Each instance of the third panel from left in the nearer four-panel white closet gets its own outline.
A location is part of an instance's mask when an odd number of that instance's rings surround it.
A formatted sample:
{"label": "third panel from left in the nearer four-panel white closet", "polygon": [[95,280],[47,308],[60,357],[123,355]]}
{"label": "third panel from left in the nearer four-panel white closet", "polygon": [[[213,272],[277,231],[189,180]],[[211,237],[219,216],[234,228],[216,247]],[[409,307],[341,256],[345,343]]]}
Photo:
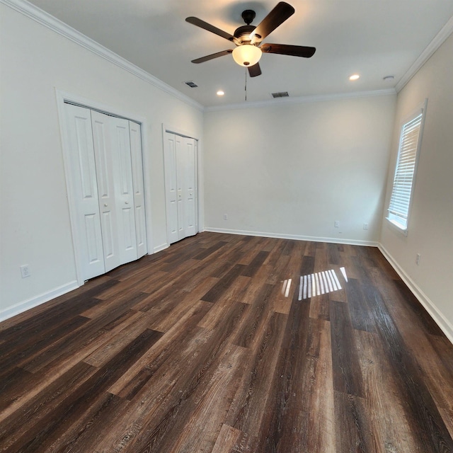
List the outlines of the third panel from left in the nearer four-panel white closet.
{"label": "third panel from left in the nearer four-panel white closet", "polygon": [[129,122],[110,117],[120,264],[137,260]]}

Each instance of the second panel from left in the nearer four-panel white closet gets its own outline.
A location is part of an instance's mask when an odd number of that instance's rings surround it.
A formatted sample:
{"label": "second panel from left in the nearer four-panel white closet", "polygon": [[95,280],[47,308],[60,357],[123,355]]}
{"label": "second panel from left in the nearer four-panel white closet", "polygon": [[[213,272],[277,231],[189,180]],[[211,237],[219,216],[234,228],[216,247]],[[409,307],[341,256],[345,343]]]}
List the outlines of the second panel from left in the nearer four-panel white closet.
{"label": "second panel from left in the nearer four-panel white closet", "polygon": [[105,272],[119,266],[120,253],[118,243],[117,213],[115,205],[115,185],[113,184],[113,155],[110,138],[110,116],[91,112],[93,126],[94,155],[98,180],[99,210]]}

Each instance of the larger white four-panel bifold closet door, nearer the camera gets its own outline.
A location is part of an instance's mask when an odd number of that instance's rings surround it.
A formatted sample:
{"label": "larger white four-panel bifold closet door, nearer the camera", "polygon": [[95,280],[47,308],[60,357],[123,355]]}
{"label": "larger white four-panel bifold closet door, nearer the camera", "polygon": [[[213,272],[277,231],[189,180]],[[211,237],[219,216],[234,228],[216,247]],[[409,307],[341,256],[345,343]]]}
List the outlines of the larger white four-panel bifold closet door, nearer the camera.
{"label": "larger white four-panel bifold closet door, nearer the camera", "polygon": [[65,104],[84,280],[147,253],[140,126]]}

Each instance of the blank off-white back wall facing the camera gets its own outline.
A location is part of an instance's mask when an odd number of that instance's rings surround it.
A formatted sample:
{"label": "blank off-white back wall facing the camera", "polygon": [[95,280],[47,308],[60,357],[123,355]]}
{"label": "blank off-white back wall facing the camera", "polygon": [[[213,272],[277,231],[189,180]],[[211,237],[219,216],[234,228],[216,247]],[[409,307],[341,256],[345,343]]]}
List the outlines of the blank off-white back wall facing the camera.
{"label": "blank off-white back wall facing the camera", "polygon": [[395,100],[205,113],[205,228],[376,245]]}

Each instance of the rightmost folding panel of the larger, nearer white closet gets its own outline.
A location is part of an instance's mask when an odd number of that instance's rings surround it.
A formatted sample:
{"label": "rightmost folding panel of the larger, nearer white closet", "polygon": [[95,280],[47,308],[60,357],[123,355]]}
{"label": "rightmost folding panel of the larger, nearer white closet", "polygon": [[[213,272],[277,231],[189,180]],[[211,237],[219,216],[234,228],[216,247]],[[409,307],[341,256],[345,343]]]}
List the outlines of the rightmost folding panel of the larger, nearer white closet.
{"label": "rightmost folding panel of the larger, nearer white closet", "polygon": [[144,211],[144,183],[142,158],[142,132],[140,125],[129,122],[132,181],[134,184],[135,234],[137,258],[147,254],[147,224]]}

